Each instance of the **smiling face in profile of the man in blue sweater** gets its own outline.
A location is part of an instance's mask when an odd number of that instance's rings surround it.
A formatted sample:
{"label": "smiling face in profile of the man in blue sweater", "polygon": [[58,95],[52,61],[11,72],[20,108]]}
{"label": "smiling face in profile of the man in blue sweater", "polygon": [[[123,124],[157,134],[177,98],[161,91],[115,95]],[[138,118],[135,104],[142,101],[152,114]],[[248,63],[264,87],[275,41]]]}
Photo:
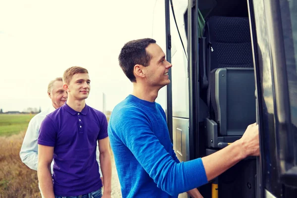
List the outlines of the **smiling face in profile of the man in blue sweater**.
{"label": "smiling face in profile of the man in blue sweater", "polygon": [[149,65],[143,68],[148,85],[158,88],[168,85],[168,70],[172,64],[165,59],[165,53],[157,44],[149,44],[146,50],[152,55]]}

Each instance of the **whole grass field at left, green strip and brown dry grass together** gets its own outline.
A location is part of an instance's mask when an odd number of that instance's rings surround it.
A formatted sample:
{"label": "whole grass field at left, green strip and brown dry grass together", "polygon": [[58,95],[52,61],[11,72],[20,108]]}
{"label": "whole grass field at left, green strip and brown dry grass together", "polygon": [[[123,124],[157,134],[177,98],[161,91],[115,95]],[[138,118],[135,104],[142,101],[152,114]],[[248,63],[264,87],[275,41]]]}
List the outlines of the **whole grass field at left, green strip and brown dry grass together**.
{"label": "whole grass field at left, green strip and brown dry grass together", "polygon": [[0,114],[0,198],[40,198],[37,172],[21,162],[19,152],[30,114]]}

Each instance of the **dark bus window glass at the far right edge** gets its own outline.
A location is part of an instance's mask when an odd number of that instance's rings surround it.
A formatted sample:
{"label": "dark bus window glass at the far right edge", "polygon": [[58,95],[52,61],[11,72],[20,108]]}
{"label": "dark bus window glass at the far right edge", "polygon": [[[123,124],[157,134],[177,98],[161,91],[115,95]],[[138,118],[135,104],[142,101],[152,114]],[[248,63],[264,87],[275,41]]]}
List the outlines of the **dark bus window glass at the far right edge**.
{"label": "dark bus window glass at the far right edge", "polygon": [[291,108],[291,133],[294,137],[295,165],[297,165],[297,1],[280,0],[280,8]]}

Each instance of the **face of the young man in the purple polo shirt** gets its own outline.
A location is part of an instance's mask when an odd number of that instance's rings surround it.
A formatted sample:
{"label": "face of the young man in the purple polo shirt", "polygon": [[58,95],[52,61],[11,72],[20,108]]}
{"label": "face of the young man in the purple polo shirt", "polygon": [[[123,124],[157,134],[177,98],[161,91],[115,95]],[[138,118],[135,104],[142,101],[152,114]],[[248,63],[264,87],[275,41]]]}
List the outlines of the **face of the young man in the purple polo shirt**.
{"label": "face of the young man in the purple polo shirt", "polygon": [[90,77],[87,73],[74,74],[68,85],[68,95],[74,99],[87,99],[90,93]]}

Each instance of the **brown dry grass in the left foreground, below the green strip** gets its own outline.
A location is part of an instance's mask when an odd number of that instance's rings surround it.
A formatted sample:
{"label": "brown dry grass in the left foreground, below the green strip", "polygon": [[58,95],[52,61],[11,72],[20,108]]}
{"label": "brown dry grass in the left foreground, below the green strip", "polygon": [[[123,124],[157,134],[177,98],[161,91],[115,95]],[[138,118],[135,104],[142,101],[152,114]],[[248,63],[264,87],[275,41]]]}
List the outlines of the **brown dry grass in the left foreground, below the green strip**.
{"label": "brown dry grass in the left foreground, below the green strip", "polygon": [[0,198],[41,198],[37,172],[22,163],[25,131],[0,137]]}

